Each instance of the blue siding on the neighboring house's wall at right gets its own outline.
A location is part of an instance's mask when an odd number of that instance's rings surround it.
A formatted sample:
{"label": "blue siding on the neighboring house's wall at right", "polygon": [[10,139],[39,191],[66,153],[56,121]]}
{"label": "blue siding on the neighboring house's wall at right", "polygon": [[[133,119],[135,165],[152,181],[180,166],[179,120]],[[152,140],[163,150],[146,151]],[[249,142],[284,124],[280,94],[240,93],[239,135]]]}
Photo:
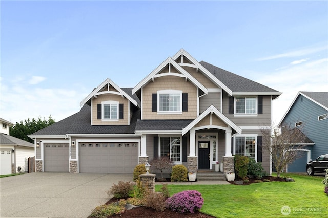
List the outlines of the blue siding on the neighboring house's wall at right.
{"label": "blue siding on the neighboring house's wall at right", "polygon": [[311,151],[312,160],[328,153],[328,119],[318,121],[318,116],[325,113],[328,111],[323,107],[299,95],[284,118],[283,123],[291,123],[292,126],[295,126],[297,121],[303,122],[303,133],[315,143]]}

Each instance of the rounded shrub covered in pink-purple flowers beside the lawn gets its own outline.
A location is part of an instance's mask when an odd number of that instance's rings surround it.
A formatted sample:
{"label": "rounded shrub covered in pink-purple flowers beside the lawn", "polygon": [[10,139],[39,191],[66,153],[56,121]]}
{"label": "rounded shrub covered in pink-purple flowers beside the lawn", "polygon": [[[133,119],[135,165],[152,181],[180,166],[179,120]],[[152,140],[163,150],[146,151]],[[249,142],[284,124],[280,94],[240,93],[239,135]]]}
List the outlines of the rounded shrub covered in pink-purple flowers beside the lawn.
{"label": "rounded shrub covered in pink-purple flowers beside the lawn", "polygon": [[180,213],[194,213],[204,203],[201,193],[195,190],[181,191],[166,200],[166,207]]}

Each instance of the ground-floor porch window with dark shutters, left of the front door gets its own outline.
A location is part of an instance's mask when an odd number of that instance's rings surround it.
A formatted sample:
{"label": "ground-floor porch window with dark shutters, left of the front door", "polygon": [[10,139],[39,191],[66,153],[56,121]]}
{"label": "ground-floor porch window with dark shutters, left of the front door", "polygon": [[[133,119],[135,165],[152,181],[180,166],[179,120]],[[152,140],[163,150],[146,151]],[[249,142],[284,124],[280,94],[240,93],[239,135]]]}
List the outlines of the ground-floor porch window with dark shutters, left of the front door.
{"label": "ground-floor porch window with dark shutters, left of the front door", "polygon": [[160,137],[160,156],[169,157],[171,161],[181,161],[180,137]]}

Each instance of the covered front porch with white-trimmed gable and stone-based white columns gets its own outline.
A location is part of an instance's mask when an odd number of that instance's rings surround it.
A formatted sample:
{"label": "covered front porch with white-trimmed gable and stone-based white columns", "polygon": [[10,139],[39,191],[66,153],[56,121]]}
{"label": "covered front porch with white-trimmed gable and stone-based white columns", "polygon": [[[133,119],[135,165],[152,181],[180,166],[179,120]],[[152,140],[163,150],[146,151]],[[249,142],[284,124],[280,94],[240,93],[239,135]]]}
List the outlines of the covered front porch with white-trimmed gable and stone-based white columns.
{"label": "covered front porch with white-trimmed gable and stone-based white columns", "polygon": [[[153,121],[141,122],[149,125]],[[197,173],[198,170],[213,170],[219,162],[223,163],[224,173],[234,171],[232,135],[241,134],[241,128],[217,108],[210,106],[188,123],[179,120],[170,122],[174,123],[174,126],[182,126],[183,122],[185,125],[182,131],[153,129],[140,132],[139,163],[166,156],[175,164],[186,165],[192,173]]]}

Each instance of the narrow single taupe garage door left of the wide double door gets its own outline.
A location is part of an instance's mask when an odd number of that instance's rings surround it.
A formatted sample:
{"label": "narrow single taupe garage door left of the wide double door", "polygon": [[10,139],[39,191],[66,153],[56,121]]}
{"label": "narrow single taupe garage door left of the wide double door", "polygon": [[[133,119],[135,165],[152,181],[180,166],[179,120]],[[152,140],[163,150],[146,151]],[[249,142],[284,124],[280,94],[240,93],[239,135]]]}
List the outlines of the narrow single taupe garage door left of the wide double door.
{"label": "narrow single taupe garage door left of the wide double door", "polygon": [[69,172],[69,144],[44,145],[45,172]]}

